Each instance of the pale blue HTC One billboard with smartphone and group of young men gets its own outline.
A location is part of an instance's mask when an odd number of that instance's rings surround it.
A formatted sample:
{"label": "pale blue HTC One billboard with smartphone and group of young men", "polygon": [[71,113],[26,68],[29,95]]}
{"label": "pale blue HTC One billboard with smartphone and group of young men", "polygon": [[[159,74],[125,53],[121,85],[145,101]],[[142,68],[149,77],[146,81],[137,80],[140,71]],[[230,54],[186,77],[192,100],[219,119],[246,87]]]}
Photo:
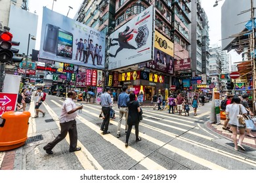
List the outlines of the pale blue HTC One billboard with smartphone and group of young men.
{"label": "pale blue HTC One billboard with smartphone and group of young men", "polygon": [[39,58],[103,69],[105,39],[104,33],[43,8]]}

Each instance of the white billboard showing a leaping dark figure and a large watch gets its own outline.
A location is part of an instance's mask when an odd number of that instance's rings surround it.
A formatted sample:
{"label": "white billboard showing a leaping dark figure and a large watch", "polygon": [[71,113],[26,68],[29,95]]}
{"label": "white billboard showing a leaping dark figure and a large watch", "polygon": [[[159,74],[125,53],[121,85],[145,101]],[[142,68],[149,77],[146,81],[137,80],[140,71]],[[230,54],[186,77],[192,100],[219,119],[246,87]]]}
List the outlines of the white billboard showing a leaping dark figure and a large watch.
{"label": "white billboard showing a leaping dark figure and a large watch", "polygon": [[152,59],[153,18],[154,7],[150,6],[110,35],[108,69],[117,69]]}

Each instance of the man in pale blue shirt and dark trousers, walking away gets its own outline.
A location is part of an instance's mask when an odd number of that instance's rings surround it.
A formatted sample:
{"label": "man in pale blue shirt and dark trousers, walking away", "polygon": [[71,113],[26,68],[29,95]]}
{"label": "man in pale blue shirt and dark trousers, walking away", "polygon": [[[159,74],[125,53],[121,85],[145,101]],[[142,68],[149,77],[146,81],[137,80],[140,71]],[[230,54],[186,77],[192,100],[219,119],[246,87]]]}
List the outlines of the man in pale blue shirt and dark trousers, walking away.
{"label": "man in pale blue shirt and dark trousers, walking away", "polygon": [[110,105],[112,103],[110,97],[110,88],[105,89],[105,92],[100,97],[100,102],[102,106],[102,112],[104,114],[104,119],[100,126],[100,130],[103,131],[103,135],[106,135],[110,133],[110,131],[108,131],[108,125],[110,124]]}

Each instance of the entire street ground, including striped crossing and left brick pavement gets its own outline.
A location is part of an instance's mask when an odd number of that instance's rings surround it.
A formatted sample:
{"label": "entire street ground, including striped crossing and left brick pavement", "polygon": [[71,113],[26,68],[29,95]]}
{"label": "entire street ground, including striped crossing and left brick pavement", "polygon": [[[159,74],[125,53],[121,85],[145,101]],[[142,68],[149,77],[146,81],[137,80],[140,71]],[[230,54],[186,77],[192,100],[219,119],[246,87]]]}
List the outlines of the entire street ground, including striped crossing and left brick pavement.
{"label": "entire street ground, including striped crossing and left brick pavement", "polygon": [[[251,170],[256,169],[256,151],[245,146],[246,152],[234,151],[233,142],[225,135],[209,127],[210,103],[198,108],[194,116],[168,114],[167,110],[153,110],[142,106],[143,120],[139,125],[142,141],[135,142],[133,128],[129,146],[125,147],[125,120],[122,121],[121,137],[117,139],[118,108],[116,119],[110,120],[108,135],[102,135],[98,118],[98,104],[83,103],[83,112],[77,116],[79,152],[69,152],[69,139],[58,143],[54,154],[46,154],[43,146],[60,133],[59,115],[63,99],[47,95],[41,109],[45,118],[30,118],[28,141],[20,148],[0,152],[0,170]],[[81,102],[77,102],[80,105]],[[29,110],[32,116],[34,102]],[[221,134],[221,135],[220,135]],[[245,138],[248,144],[254,139]],[[255,143],[254,143],[255,144]]]}

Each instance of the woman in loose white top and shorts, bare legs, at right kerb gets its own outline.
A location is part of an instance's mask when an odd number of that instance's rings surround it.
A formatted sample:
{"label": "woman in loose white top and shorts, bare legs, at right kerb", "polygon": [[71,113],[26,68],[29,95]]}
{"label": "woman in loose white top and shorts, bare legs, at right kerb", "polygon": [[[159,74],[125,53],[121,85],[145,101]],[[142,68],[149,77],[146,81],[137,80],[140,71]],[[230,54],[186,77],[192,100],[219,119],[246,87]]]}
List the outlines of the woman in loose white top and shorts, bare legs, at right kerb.
{"label": "woman in loose white top and shorts, bare legs, at right kerb", "polygon": [[[228,124],[230,124],[230,129],[232,131],[232,139],[234,142],[234,150],[245,150],[245,148],[241,145],[244,141],[244,131],[245,131],[245,125],[239,124],[238,122],[238,115],[240,114],[240,110],[242,114],[245,116],[247,115],[247,111],[245,110],[244,106],[240,104],[241,99],[239,97],[233,97],[231,104],[226,105],[226,114],[229,116],[230,120]],[[237,129],[239,130],[239,139],[238,142],[236,140],[237,137]]]}

